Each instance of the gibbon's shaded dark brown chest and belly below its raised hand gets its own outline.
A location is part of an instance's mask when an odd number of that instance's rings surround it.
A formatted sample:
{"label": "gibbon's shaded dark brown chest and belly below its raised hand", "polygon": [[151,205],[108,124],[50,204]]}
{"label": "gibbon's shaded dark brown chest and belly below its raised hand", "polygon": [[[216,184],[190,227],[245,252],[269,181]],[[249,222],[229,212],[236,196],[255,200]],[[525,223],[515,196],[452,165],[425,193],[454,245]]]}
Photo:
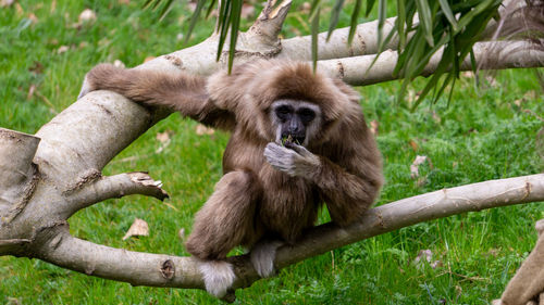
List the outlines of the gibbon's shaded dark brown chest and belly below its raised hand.
{"label": "gibbon's shaded dark brown chest and belly below its raised hand", "polygon": [[295,242],[304,229],[312,227],[319,209],[316,188],[302,178],[293,178],[272,167],[259,175],[263,189],[258,221],[267,231]]}

